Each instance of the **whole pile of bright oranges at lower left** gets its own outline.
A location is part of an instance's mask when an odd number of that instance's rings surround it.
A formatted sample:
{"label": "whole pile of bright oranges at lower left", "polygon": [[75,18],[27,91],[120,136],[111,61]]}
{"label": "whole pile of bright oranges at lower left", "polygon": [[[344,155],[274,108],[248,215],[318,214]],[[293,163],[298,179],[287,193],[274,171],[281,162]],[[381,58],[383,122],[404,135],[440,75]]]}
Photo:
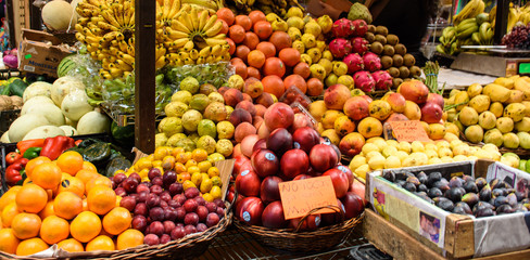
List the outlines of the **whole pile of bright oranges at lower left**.
{"label": "whole pile of bright oranges at lower left", "polygon": [[143,234],[129,229],[132,217],[118,207],[111,180],[79,153],[31,159],[22,186],[0,197],[1,251],[28,256],[53,244],[71,252],[143,244]]}

